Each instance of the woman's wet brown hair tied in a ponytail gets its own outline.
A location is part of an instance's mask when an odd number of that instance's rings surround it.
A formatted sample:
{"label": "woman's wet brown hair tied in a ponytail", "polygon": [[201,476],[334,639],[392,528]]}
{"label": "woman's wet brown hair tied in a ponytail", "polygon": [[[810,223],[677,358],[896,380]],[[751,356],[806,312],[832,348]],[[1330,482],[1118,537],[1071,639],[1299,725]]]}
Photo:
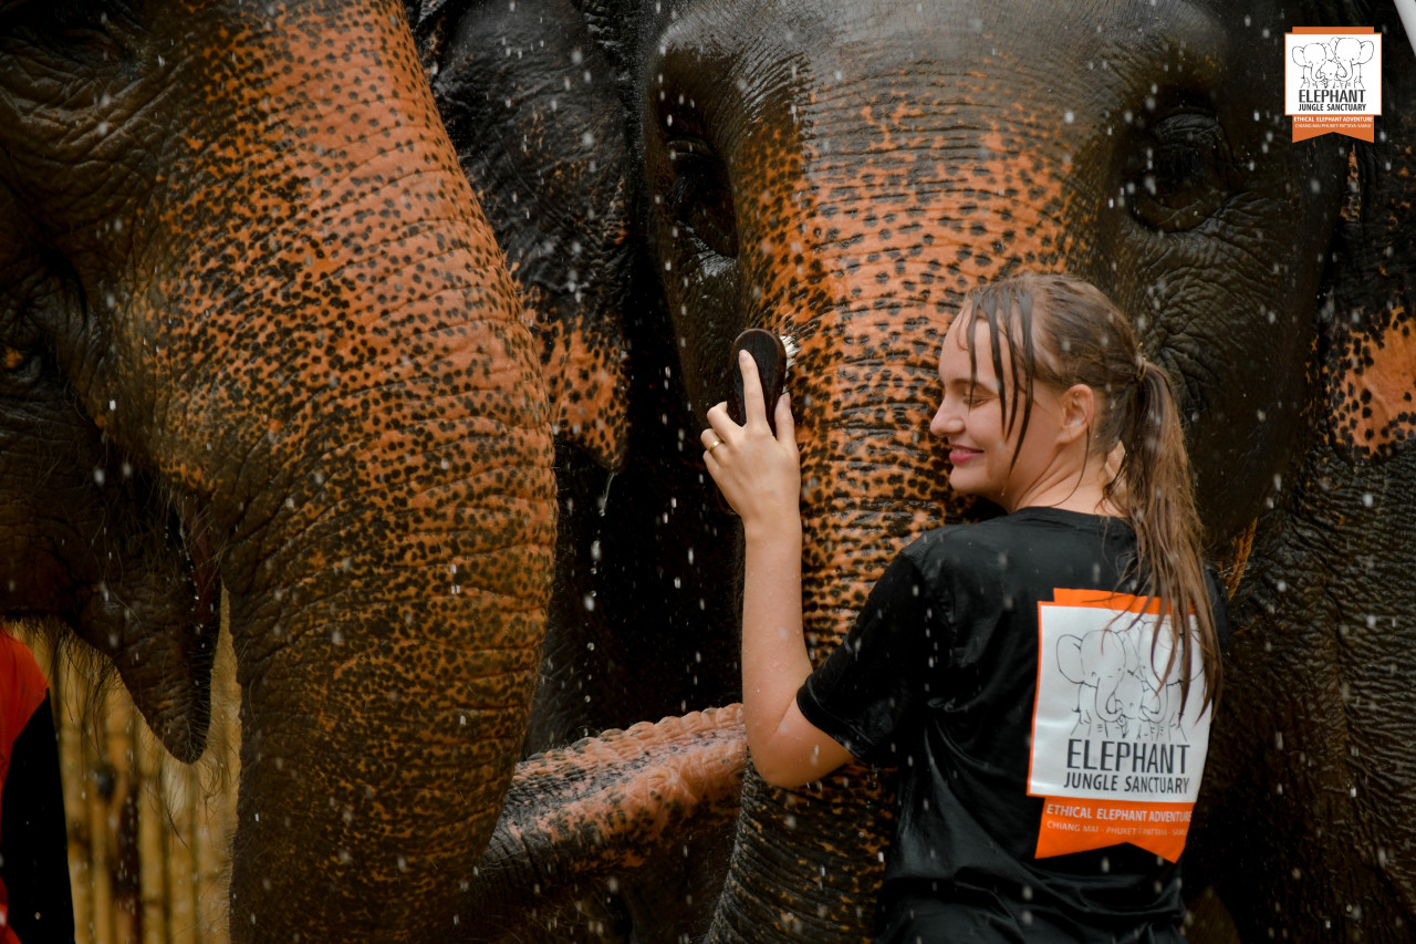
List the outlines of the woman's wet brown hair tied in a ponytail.
{"label": "woman's wet brown hair tied in a ponytail", "polygon": [[[1195,634],[1181,632],[1181,621],[1165,621],[1175,645],[1160,675],[1170,675],[1175,658],[1182,666],[1194,665],[1198,645],[1205,672],[1202,704],[1212,703],[1219,695],[1219,639],[1201,554],[1204,529],[1170,376],[1146,359],[1120,309],[1100,289],[1070,275],[1024,272],[978,286],[964,296],[960,315],[969,319],[960,337],[969,350],[971,383],[978,380],[974,330],[980,322],[988,325],[1005,429],[1011,435],[1020,427],[1014,465],[1028,432],[1035,384],[1058,393],[1085,384],[1096,394],[1087,461],[1097,456],[1106,462],[1117,444],[1124,446],[1104,496],[1136,532],[1137,560],[1127,577],[1146,581],[1163,614],[1195,617]],[[1005,356],[1011,384],[1004,380]],[[1181,672],[1181,710],[1188,697],[1187,669]]]}

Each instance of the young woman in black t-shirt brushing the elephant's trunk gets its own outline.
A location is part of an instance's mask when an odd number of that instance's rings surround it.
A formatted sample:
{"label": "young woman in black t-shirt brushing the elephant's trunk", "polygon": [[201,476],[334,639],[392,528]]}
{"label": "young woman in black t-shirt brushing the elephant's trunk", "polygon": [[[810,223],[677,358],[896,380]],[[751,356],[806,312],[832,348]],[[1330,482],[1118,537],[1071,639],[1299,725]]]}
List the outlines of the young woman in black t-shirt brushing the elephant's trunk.
{"label": "young woman in black t-shirt brushing the elephant's trunk", "polygon": [[1062,275],[964,299],[930,432],[1005,515],[910,544],[816,672],[790,405],[773,437],[739,367],[746,424],[719,404],[702,442],[746,540],[748,744],[780,787],[899,767],[877,940],[1180,941],[1228,629],[1170,380],[1126,318]]}

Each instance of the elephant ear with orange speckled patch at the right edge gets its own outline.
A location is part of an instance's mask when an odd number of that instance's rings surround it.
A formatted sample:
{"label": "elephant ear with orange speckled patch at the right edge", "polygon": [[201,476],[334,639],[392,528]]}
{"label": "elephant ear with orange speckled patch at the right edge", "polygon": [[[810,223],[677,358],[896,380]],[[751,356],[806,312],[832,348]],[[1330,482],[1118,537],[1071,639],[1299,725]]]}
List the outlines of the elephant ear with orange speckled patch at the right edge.
{"label": "elephant ear with orange speckled patch at the right edge", "polygon": [[1385,33],[1382,116],[1351,157],[1321,361],[1332,445],[1349,462],[1416,439],[1416,55],[1399,23]]}

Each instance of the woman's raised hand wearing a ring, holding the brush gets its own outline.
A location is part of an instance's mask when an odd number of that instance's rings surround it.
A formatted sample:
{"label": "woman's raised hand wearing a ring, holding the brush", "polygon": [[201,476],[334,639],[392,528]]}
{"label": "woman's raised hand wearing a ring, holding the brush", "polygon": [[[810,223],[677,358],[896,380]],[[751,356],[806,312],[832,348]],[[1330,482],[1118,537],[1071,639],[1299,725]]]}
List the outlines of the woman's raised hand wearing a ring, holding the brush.
{"label": "woman's raised hand wearing a ring, holding the brush", "polygon": [[748,352],[739,352],[738,367],[742,370],[746,424],[739,427],[733,422],[725,403],[709,410],[709,428],[702,432],[707,449],[704,463],[728,505],[742,517],[743,532],[750,540],[773,534],[777,529],[801,526],[801,471],[787,394],[783,393],[775,404],[777,434],[773,437],[762,401],[758,363]]}

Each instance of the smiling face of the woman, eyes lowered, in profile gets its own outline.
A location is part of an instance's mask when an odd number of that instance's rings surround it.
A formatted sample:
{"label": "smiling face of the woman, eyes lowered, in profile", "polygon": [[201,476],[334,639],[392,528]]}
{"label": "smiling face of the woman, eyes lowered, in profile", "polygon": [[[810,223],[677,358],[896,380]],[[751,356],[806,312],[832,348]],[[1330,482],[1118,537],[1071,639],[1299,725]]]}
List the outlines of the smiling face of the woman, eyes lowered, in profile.
{"label": "smiling face of the woman, eyes lowered, in profile", "polygon": [[[944,395],[929,431],[949,444],[949,461],[953,463],[950,488],[963,495],[986,498],[1012,512],[1027,505],[1028,496],[1045,482],[1054,458],[1048,444],[1056,441],[1061,404],[1052,390],[1034,386],[1027,439],[1014,463],[1012,455],[1018,448],[1027,403],[1017,404],[1018,418],[1010,432],[1000,397],[1003,384],[1008,384],[1010,411],[1017,394],[1011,377],[1001,378],[994,373],[991,329],[981,319],[973,325],[973,346],[978,357],[977,377],[970,378],[969,347],[964,346],[969,315],[970,308],[966,305],[944,335],[939,354],[939,378],[944,384]],[[1001,339],[1001,350],[1003,363],[1008,364],[1007,339]]]}

